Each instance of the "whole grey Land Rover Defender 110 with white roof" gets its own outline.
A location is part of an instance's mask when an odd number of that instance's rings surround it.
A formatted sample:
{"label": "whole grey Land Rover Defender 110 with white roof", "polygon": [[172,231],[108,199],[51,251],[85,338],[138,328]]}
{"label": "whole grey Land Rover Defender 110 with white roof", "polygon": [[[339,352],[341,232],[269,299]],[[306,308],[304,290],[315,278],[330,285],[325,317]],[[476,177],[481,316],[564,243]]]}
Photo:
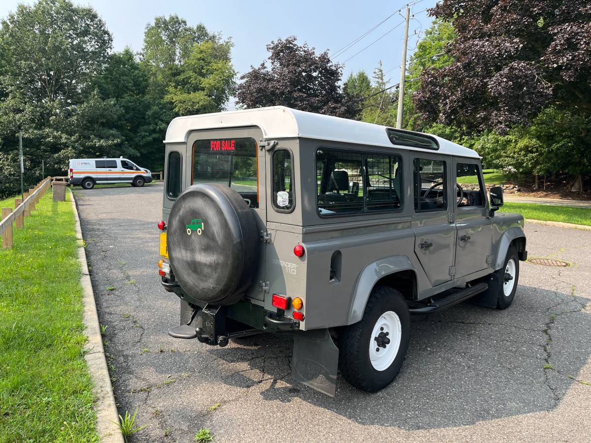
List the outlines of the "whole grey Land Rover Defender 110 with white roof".
{"label": "whole grey Land Rover Defender 110 with white roof", "polygon": [[294,338],[292,375],[335,395],[400,371],[411,314],[504,309],[527,259],[475,151],[437,136],[273,107],[174,119],[160,275],[169,334]]}

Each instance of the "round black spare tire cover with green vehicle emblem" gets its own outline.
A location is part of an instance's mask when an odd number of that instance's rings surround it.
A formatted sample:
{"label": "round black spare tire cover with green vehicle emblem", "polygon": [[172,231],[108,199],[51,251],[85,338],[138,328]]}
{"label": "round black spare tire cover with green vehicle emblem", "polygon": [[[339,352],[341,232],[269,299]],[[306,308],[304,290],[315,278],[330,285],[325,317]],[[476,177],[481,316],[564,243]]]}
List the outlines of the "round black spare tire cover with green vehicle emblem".
{"label": "round black spare tire cover with green vehicle emblem", "polygon": [[259,241],[252,210],[240,194],[223,185],[187,188],[168,217],[170,265],[195,301],[238,302],[252,284]]}

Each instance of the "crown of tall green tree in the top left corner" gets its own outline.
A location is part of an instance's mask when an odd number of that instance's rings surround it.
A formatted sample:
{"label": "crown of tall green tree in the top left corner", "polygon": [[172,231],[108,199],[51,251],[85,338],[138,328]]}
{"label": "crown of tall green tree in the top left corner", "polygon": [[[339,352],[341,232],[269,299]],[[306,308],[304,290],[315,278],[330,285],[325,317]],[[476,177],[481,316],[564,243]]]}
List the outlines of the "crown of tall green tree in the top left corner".
{"label": "crown of tall green tree in the top left corner", "polygon": [[1,86],[5,92],[18,89],[27,100],[70,105],[101,69],[111,41],[92,8],[67,0],[20,4],[2,20]]}

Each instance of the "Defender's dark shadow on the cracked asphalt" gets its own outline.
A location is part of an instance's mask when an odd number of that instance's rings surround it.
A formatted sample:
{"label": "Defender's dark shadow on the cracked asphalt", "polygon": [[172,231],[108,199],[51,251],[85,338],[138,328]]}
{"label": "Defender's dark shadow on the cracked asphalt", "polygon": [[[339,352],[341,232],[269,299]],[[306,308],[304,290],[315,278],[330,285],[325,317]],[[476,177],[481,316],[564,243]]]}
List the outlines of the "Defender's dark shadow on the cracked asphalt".
{"label": "Defender's dark shadow on the cracked asphalt", "polygon": [[414,319],[401,373],[374,394],[340,376],[334,399],[295,383],[292,340],[285,335],[243,338],[247,348],[209,353],[248,361],[250,370],[224,383],[250,387],[271,380],[261,392],[266,400],[290,402],[297,396],[362,425],[428,429],[548,411],[576,383],[591,355],[591,316],[582,311],[589,299],[528,286],[519,286],[518,296],[505,311],[465,303]]}

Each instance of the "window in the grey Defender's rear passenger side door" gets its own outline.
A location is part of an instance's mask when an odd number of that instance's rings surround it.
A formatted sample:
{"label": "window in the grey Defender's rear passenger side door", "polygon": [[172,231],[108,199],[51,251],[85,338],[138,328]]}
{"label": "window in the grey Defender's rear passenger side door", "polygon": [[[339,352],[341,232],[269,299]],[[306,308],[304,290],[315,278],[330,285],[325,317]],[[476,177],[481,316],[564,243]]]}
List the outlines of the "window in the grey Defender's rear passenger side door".
{"label": "window in the grey Defender's rear passenger side door", "polygon": [[447,209],[446,165],[442,160],[414,159],[414,209]]}

